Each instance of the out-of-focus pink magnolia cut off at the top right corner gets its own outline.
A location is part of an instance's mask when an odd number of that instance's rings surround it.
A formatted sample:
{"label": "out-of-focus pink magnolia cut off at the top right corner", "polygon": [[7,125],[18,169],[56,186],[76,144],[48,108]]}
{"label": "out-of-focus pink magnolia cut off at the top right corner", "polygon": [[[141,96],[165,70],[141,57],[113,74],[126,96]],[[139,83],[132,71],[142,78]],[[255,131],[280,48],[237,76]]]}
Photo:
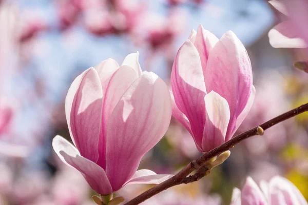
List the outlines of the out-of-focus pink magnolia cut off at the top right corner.
{"label": "out-of-focus pink magnolia cut off at the top right corner", "polygon": [[307,2],[274,0],[268,3],[288,18],[268,32],[269,43],[274,48],[306,48],[308,46]]}

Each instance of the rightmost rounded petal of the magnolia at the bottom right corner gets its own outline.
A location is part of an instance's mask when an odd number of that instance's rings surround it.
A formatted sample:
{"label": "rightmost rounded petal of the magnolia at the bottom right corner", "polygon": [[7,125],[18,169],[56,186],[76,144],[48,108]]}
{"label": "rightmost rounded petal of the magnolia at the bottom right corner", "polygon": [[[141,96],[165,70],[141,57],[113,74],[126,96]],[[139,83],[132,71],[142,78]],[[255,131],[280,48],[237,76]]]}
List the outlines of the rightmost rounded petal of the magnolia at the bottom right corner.
{"label": "rightmost rounded petal of the magnolia at the bottom right corner", "polygon": [[280,176],[273,177],[269,182],[269,193],[271,205],[307,204],[307,201],[293,183]]}

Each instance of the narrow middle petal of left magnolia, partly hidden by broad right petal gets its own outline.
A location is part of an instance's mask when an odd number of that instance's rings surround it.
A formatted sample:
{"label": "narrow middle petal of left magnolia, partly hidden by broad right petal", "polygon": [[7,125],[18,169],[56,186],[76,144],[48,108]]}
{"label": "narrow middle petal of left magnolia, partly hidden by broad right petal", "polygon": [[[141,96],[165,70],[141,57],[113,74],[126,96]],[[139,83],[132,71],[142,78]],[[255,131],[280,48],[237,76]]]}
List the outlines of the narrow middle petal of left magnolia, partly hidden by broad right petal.
{"label": "narrow middle petal of left magnolia, partly hidden by broad right petal", "polygon": [[110,77],[109,84],[106,88],[105,98],[102,111],[102,125],[99,140],[99,160],[98,165],[103,169],[106,168],[106,135],[108,119],[118,104],[122,95],[137,78],[137,73],[129,66],[121,66]]}

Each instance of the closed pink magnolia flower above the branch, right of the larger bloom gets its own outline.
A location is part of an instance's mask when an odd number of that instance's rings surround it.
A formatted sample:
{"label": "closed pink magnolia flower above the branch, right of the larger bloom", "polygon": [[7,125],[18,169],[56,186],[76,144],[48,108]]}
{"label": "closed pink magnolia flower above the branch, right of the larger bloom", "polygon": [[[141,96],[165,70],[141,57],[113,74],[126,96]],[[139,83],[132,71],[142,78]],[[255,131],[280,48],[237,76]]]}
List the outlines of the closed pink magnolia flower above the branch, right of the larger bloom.
{"label": "closed pink magnolia flower above the branch, right of the larger bloom", "polygon": [[179,49],[171,72],[172,114],[200,152],[229,140],[252,106],[251,61],[232,32],[219,40],[200,25]]}

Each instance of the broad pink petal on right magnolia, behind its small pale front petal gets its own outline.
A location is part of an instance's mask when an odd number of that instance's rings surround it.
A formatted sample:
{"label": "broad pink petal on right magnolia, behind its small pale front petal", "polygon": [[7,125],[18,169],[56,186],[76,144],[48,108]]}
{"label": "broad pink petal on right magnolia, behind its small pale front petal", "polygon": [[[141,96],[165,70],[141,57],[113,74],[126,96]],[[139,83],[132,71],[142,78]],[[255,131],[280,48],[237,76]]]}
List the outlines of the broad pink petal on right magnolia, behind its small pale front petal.
{"label": "broad pink petal on right magnolia, behind its small pale front petal", "polygon": [[244,110],[253,85],[251,61],[237,36],[226,32],[210,50],[204,73],[207,91],[225,98],[230,109],[226,141],[236,129],[236,119]]}

